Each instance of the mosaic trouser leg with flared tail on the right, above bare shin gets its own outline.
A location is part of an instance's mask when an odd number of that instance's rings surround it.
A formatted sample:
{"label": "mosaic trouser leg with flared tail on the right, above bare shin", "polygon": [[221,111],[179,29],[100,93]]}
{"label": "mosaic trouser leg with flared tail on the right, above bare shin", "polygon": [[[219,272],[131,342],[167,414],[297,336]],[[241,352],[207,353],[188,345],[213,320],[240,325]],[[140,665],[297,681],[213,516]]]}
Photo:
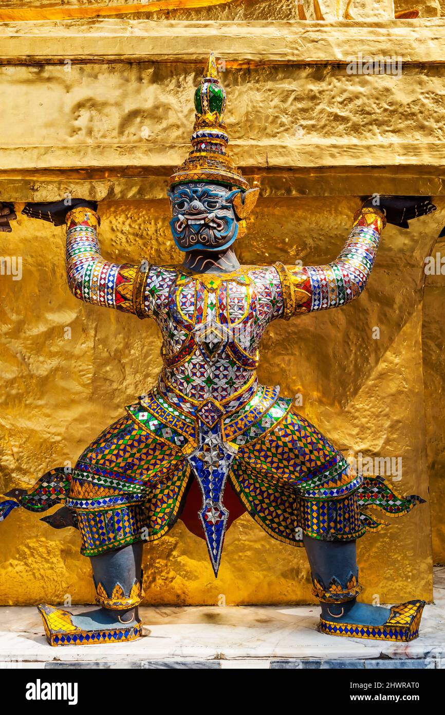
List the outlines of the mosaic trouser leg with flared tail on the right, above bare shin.
{"label": "mosaic trouser leg with flared tail on the right, above bare shin", "polygon": [[251,517],[270,536],[294,546],[302,545],[303,534],[351,541],[384,526],[370,508],[401,516],[423,501],[401,497],[382,477],[356,475],[294,409],[264,437],[239,449],[230,476]]}

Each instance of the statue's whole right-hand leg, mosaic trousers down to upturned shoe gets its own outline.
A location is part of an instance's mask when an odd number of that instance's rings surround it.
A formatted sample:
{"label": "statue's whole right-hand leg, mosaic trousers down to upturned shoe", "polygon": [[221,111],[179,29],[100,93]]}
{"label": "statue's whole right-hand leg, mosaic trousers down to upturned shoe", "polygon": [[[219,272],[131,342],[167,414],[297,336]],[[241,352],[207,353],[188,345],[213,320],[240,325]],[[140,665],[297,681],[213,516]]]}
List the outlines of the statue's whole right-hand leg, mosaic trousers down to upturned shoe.
{"label": "statue's whole right-hand leg, mosaic trousers down to upturned shoe", "polygon": [[[266,413],[276,420],[286,400]],[[423,499],[397,494],[383,477],[357,474],[329,440],[291,408],[265,436],[239,449],[230,478],[251,516],[279,541],[301,545],[321,603],[320,630],[334,636],[410,641],[424,601],[380,608],[359,603],[356,539],[377,531],[375,510],[401,516]],[[245,437],[244,437],[245,439]]]}

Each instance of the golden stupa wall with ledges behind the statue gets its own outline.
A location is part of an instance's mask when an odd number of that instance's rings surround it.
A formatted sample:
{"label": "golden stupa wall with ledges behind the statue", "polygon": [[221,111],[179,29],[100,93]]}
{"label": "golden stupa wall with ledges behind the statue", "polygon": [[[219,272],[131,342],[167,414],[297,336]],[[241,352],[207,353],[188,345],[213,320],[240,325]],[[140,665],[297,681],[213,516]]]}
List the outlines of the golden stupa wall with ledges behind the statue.
{"label": "golden stupa wall with ledges behind the statue", "polygon": [[[64,11],[94,5],[71,0]],[[272,325],[259,370],[284,395],[301,395],[304,415],[346,453],[401,459],[401,479],[386,476],[429,503],[360,541],[364,596],[431,599],[433,561],[445,562],[445,277],[424,273],[424,258],[444,250],[436,243],[445,225],[439,3],[404,21],[392,5],[358,2],[348,12],[361,19],[318,2],[305,5],[304,21],[286,0],[159,2],[150,20],[133,6],[114,16],[114,5],[125,3],[110,3],[109,17],[66,20],[56,1],[0,1],[0,200],[21,209],[64,194],[98,199],[106,257],[178,260],[166,177],[189,149],[192,94],[211,50],[228,95],[231,155],[261,182],[242,262],[328,262],[361,195],[434,195],[436,214],[409,232],[386,229],[358,301]],[[314,7],[329,19],[317,20]],[[401,56],[400,77],[349,75],[346,59],[359,51]],[[72,297],[62,228],[19,217],[13,233],[0,234],[0,255],[20,256],[23,271],[21,280],[0,276],[5,492],[74,463],[149,388],[161,360],[153,323]],[[92,601],[76,531],[16,510],[0,540],[0,603]],[[271,540],[247,516],[227,534],[217,581],[204,541],[181,522],[145,551],[147,603],[313,601],[304,551]]]}

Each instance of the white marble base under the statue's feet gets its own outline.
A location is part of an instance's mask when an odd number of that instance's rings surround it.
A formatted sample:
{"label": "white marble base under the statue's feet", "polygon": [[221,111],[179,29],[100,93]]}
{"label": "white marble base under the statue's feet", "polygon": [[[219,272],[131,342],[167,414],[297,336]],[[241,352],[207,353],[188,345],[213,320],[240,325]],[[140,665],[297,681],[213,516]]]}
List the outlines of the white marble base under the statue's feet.
{"label": "white marble base under the statue's feet", "polygon": [[436,568],[434,594],[419,638],[408,644],[318,633],[319,609],[314,606],[188,606],[141,608],[149,635],[134,643],[51,648],[36,608],[3,606],[0,669],[59,663],[105,668],[445,668],[445,568]]}

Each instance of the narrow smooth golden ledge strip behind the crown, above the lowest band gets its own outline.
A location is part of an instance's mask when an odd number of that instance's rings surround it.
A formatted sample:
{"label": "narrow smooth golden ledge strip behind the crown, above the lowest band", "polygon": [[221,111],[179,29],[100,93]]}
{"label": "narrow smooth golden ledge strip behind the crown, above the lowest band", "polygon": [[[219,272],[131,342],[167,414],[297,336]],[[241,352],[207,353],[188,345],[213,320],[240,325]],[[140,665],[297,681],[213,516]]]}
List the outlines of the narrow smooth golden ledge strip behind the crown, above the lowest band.
{"label": "narrow smooth golden ledge strip behind the crown, above the lowest band", "polygon": [[[301,167],[320,167],[321,154],[329,149],[329,167],[363,167],[366,157],[367,167],[416,167],[435,169],[441,174],[444,169],[445,142],[381,142],[379,145],[356,141],[329,144],[315,139],[313,142],[289,140],[286,144],[270,142],[266,138],[261,142],[234,141],[230,144],[231,159],[239,167],[250,172],[256,169],[296,169]],[[89,169],[108,169],[128,171],[129,167],[138,170],[156,169],[156,174],[169,176],[171,170],[181,164],[190,150],[189,144],[161,144],[146,142],[139,144],[66,144],[52,146],[15,146],[0,147],[0,164],[10,172],[14,169],[29,170],[34,164],[35,170],[79,168],[82,172]],[[432,169],[434,167],[434,169]]]}

